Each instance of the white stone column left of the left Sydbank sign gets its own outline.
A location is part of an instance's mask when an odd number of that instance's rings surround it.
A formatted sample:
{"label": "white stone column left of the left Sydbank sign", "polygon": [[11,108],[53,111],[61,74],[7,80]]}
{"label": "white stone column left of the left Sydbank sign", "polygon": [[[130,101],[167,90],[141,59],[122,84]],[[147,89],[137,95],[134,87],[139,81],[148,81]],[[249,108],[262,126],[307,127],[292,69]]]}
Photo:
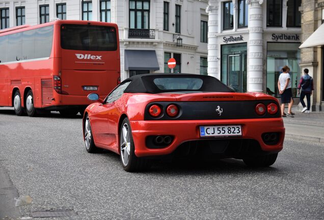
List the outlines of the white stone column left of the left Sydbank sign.
{"label": "white stone column left of the left Sydbank sign", "polygon": [[208,68],[207,73],[221,79],[221,72],[218,71],[218,0],[209,0],[206,8],[208,13]]}

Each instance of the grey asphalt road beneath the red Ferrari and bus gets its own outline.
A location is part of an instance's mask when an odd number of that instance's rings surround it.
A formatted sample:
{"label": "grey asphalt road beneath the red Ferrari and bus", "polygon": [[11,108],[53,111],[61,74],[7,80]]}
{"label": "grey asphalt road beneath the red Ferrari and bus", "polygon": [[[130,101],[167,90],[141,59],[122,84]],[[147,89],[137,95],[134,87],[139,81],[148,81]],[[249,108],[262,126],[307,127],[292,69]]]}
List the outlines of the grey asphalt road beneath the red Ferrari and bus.
{"label": "grey asphalt road beneath the red Ferrari and bus", "polygon": [[[270,168],[224,159],[126,173],[118,155],[87,153],[81,116],[0,108],[0,219],[62,209],[77,215],[52,219],[324,219],[323,150],[286,139]],[[15,208],[12,197],[27,195],[33,203]]]}

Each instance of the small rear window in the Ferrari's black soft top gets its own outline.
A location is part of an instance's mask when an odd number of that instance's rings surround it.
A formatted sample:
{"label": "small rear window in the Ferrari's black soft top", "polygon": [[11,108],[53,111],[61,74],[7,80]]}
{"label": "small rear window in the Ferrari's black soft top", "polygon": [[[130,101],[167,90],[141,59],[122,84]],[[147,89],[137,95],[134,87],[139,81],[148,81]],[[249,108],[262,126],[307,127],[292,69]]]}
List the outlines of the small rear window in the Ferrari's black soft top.
{"label": "small rear window in the Ferrari's black soft top", "polygon": [[200,78],[155,78],[155,86],[160,90],[199,90],[203,84]]}

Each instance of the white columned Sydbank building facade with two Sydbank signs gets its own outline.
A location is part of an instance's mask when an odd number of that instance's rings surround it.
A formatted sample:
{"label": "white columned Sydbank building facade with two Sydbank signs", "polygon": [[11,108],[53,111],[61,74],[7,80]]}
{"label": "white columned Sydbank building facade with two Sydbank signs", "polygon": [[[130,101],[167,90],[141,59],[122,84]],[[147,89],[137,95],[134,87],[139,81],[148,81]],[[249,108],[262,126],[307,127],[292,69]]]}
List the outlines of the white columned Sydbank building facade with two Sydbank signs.
{"label": "white columned Sydbank building facade with two Sydbank signs", "polygon": [[[239,92],[279,96],[277,82],[290,67],[297,98],[300,68],[301,0],[209,0],[208,74]],[[211,32],[211,30],[213,30]],[[211,68],[213,66],[213,68]]]}

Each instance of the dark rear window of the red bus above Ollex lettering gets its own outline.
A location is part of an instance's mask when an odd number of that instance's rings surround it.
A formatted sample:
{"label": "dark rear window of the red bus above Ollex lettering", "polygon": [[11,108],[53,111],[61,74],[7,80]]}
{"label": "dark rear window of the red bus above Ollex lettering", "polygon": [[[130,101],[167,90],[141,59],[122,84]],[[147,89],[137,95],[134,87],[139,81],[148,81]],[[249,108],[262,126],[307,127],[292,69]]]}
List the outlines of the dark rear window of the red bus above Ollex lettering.
{"label": "dark rear window of the red bus above Ollex lettering", "polygon": [[116,29],[99,25],[62,24],[61,47],[70,50],[116,50]]}

